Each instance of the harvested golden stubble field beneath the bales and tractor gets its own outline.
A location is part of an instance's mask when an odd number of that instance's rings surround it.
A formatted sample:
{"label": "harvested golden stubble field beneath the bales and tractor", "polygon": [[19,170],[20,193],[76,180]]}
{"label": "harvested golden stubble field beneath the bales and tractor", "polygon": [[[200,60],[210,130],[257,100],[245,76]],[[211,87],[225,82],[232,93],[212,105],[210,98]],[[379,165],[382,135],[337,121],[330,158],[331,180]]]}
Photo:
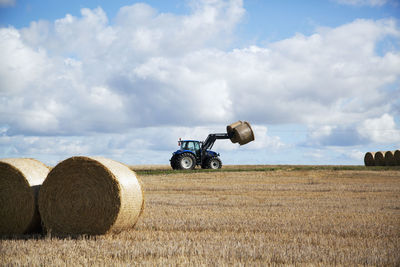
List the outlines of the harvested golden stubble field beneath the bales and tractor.
{"label": "harvested golden stubble field beneath the bales and tractor", "polygon": [[3,238],[0,265],[400,264],[398,167],[147,170],[134,229]]}

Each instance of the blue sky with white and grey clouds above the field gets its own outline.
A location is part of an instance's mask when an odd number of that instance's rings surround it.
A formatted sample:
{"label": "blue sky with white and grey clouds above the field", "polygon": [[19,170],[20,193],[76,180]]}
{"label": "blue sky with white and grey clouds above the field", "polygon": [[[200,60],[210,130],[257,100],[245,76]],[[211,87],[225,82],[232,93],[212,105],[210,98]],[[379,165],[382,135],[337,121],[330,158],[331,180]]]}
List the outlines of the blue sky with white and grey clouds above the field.
{"label": "blue sky with white and grey clouds above the field", "polygon": [[400,149],[399,0],[0,0],[0,158],[169,164],[237,120],[223,164]]}

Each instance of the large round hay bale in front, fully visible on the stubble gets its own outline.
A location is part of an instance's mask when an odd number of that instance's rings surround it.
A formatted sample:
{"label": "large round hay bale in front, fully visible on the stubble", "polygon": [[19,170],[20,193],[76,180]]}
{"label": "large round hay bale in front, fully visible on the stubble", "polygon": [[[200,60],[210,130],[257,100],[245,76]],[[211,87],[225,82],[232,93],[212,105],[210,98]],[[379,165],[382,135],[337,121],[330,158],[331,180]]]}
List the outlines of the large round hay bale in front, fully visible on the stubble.
{"label": "large round hay bale in front, fully visible on the stubble", "polygon": [[105,234],[133,227],[143,192],[127,166],[100,157],[72,157],[57,164],[43,182],[39,211],[55,234]]}

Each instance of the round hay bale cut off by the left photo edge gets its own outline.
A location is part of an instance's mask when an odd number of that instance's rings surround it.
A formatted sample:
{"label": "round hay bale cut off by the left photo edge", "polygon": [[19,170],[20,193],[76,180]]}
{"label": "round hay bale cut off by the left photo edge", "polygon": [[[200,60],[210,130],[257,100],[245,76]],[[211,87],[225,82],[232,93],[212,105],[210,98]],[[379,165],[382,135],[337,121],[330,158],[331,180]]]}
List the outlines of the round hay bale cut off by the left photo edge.
{"label": "round hay bale cut off by the left photo edge", "polygon": [[0,234],[26,234],[41,229],[39,187],[49,169],[34,159],[0,159]]}

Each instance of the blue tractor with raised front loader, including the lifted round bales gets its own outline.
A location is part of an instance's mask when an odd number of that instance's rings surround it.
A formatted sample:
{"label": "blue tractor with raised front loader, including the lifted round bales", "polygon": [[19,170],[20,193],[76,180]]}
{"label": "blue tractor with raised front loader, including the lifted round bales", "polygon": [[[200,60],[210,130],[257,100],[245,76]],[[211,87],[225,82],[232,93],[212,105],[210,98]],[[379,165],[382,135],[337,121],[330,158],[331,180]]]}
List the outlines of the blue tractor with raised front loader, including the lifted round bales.
{"label": "blue tractor with raised front loader, including the lifted round bales", "polygon": [[240,145],[254,140],[254,133],[246,121],[238,121],[227,126],[227,133],[209,134],[205,141],[181,140],[180,149],[172,153],[170,159],[174,170],[192,170],[196,165],[203,169],[219,169],[222,167],[219,153],[211,151],[217,139],[230,139],[232,143]]}

